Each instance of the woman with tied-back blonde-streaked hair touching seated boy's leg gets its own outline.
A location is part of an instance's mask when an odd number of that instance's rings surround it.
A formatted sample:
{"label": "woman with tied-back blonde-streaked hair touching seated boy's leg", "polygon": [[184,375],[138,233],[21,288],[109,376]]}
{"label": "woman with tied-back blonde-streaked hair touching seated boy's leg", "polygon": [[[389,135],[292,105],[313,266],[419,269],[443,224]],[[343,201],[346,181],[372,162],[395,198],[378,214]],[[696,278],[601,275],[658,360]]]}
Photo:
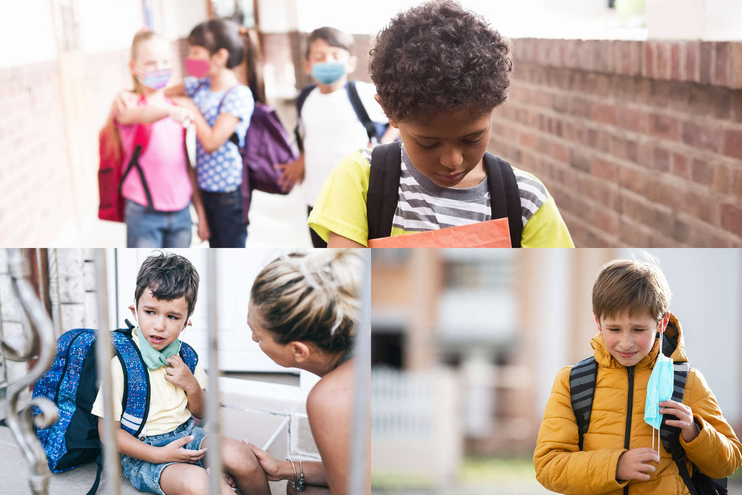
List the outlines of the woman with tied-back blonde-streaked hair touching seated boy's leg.
{"label": "woman with tied-back blonde-streaked hair touching seated boy's leg", "polygon": [[[347,494],[353,416],[353,336],[358,330],[364,260],[352,249],[292,253],[266,266],[252,285],[247,322],[252,340],[283,367],[321,376],[306,414],[321,462],[302,462],[303,494]],[[269,481],[300,479],[299,463],[274,459],[243,440]],[[296,471],[294,471],[296,470]],[[296,473],[296,478],[294,477]]]}

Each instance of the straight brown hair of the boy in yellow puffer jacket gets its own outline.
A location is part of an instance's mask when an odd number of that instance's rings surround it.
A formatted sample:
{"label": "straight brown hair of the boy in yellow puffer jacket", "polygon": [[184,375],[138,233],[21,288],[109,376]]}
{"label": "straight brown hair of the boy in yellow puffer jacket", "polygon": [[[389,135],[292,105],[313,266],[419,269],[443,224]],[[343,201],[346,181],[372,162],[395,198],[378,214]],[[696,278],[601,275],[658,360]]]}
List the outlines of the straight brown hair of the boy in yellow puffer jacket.
{"label": "straight brown hair of the boy in yellow puffer jacket", "polygon": [[662,321],[672,293],[662,270],[640,260],[611,260],[598,272],[593,286],[593,312],[598,318],[612,318],[628,312],[649,312]]}

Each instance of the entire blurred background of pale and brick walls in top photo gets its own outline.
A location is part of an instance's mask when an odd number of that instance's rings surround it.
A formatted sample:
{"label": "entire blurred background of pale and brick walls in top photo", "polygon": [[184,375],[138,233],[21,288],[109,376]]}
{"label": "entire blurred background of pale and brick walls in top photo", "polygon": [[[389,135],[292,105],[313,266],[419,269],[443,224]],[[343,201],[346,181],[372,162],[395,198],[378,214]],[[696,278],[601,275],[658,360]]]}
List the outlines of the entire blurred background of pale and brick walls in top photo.
{"label": "entire blurred background of pale and brick walls in top photo", "polygon": [[[266,91],[286,128],[307,33],[332,25],[367,50],[418,0],[4,0],[0,245],[121,246],[96,218],[97,131],[131,88],[143,26],[185,56],[213,17],[260,32]],[[490,151],[536,174],[577,246],[742,245],[742,3],[463,0],[513,39],[511,97]],[[174,81],[180,77],[176,74]],[[301,187],[256,194],[248,246],[309,246]],[[33,222],[24,221],[33,218]],[[196,243],[194,236],[194,244]]]}

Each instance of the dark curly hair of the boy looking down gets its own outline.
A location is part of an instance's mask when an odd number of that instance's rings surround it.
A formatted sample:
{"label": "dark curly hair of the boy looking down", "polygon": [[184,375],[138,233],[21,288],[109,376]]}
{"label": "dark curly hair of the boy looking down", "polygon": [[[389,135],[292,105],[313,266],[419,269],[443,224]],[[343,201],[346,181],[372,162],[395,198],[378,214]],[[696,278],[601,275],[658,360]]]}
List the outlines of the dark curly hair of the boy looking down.
{"label": "dark curly hair of the boy looking down", "polygon": [[398,13],[378,33],[369,72],[390,119],[460,108],[485,114],[508,98],[510,41],[456,1]]}

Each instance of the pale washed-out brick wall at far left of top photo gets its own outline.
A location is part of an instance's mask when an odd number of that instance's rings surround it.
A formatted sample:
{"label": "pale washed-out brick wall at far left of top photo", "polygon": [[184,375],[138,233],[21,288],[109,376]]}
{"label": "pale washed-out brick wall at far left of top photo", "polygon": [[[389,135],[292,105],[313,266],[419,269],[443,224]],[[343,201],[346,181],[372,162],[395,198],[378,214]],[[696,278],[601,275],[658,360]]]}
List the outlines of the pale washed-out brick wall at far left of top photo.
{"label": "pale washed-out brick wall at far left of top photo", "polygon": [[75,216],[56,62],[0,70],[0,246],[41,246]]}

